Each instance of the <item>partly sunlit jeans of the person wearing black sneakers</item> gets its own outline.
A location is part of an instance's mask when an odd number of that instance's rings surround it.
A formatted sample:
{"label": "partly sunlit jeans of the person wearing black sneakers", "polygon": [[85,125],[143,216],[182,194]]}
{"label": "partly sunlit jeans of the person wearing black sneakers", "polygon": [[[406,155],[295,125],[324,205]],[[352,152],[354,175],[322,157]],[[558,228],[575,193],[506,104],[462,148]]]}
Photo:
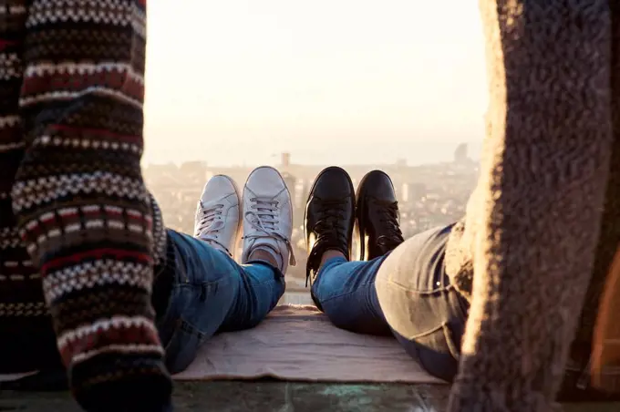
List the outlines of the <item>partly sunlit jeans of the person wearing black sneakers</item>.
{"label": "partly sunlit jeans of the person wearing black sneakers", "polygon": [[469,304],[449,283],[444,255],[452,226],[418,233],[368,262],[325,262],[312,293],[336,326],[393,334],[429,374],[452,381]]}

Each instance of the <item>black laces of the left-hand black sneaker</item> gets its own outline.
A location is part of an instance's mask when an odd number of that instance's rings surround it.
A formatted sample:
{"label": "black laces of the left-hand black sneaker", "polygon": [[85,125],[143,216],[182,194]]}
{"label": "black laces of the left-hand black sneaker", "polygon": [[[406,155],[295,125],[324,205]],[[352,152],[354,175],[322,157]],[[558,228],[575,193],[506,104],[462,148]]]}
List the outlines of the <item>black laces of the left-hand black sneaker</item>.
{"label": "black laces of the left-hand black sneaker", "polygon": [[312,251],[308,255],[308,264],[305,268],[305,287],[308,287],[311,272],[315,271],[316,263],[318,263],[317,261],[323,255],[323,252],[330,247],[337,248],[339,242],[334,242],[335,239],[346,242],[346,239],[338,239],[346,236],[343,233],[346,232],[344,222],[346,200],[322,201],[315,199],[315,201],[322,212],[320,219],[316,221],[312,229],[312,232],[319,235],[316,238]]}

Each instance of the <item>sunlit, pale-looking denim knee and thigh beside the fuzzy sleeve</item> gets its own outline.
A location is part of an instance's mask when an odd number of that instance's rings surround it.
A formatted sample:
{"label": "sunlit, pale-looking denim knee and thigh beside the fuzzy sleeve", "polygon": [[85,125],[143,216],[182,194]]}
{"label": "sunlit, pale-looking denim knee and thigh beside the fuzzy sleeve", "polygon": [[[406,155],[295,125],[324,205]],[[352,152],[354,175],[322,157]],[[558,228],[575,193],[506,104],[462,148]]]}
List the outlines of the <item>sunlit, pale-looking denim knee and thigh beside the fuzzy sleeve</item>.
{"label": "sunlit, pale-looking denim knee and thigh beside the fuzzy sleeve", "polygon": [[394,335],[433,376],[451,381],[469,304],[445,273],[451,226],[418,233],[395,249],[377,273],[378,302]]}

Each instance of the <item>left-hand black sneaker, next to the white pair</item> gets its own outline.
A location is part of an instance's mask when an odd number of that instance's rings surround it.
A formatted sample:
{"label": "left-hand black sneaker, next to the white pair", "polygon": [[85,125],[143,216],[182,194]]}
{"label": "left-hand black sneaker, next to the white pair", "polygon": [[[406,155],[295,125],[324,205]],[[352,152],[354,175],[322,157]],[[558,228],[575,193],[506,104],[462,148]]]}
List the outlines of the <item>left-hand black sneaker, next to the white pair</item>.
{"label": "left-hand black sneaker, next to the white pair", "polygon": [[[315,179],[305,205],[305,244],[309,252],[306,281],[314,283],[323,253],[342,252],[351,256],[355,225],[355,190],[351,178],[337,167],[327,168]],[[316,306],[315,296],[312,296]]]}

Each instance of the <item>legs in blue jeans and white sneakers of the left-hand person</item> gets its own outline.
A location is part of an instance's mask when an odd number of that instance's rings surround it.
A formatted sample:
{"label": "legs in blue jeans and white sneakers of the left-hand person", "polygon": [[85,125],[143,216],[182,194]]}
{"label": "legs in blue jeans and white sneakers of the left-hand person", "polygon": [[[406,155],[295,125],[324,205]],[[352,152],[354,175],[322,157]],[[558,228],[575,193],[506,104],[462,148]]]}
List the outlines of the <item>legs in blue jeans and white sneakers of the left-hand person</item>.
{"label": "legs in blue jeans and white sneakers of the left-hand person", "polygon": [[[243,195],[232,179],[213,177],[198,202],[194,236],[167,231],[152,300],[172,374],[189,366],[212,335],[251,328],[278,303],[289,258],[294,263],[292,218],[284,180],[263,167],[250,174]],[[242,231],[239,264],[234,252]]]}

